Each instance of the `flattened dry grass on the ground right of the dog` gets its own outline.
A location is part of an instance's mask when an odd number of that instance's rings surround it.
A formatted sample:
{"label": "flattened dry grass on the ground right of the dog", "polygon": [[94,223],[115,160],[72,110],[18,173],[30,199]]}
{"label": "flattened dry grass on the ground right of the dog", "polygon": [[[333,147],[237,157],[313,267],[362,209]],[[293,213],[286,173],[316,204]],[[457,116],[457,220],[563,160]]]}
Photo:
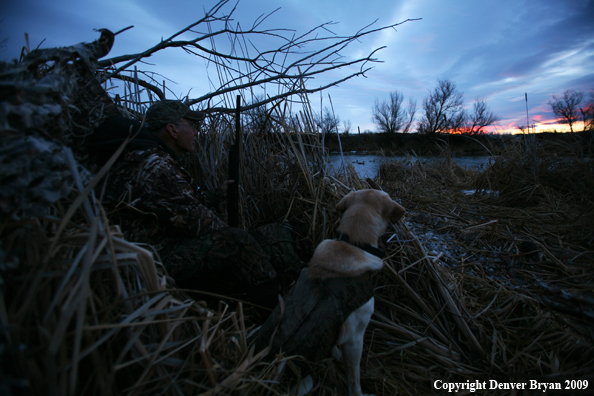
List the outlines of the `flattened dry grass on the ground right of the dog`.
{"label": "flattened dry grass on the ground right of the dog", "polygon": [[483,172],[412,158],[381,167],[378,182],[410,217],[388,241],[368,359],[385,378],[398,373],[399,394],[438,393],[437,379],[594,373],[591,165],[539,153],[534,172],[526,161],[509,150]]}

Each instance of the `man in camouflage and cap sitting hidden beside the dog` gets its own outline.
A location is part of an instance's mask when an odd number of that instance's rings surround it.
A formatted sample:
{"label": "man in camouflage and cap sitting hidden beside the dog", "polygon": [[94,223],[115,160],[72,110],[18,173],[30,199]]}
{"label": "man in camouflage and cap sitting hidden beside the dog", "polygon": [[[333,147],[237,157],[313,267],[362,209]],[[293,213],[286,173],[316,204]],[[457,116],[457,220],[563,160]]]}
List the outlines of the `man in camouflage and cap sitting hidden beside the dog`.
{"label": "man in camouflage and cap sitting hidden beside the dog", "polygon": [[216,213],[234,181],[203,191],[180,163],[182,155],[194,151],[204,118],[181,101],[162,100],[148,109],[145,128],[124,117],[103,123],[91,145],[96,155],[110,145],[107,151],[114,151],[113,143],[121,139],[113,137],[131,123],[133,132],[139,131],[110,170],[107,196],[133,240],[157,249],[178,287],[274,307],[277,273],[301,269],[291,232],[269,224],[248,233]]}

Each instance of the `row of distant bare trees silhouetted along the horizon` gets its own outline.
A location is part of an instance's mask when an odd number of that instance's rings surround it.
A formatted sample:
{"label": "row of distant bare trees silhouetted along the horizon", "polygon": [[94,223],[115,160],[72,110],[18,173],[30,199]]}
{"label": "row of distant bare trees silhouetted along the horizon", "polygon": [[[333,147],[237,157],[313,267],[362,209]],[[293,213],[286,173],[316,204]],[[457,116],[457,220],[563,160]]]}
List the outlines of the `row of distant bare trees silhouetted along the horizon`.
{"label": "row of distant bare trees silhouetted along the horizon", "polygon": [[[487,127],[495,125],[501,118],[495,114],[483,98],[476,98],[470,109],[464,107],[464,95],[456,84],[450,80],[438,80],[437,86],[423,99],[420,111],[416,100],[404,100],[398,91],[390,92],[387,99],[376,99],[371,109],[371,120],[378,132],[421,134],[464,133],[478,135],[486,132]],[[255,100],[261,102],[261,98]],[[583,122],[583,130],[594,130],[594,89],[586,96],[583,92],[568,89],[562,95],[552,95],[548,101],[558,122],[568,124],[574,132],[576,123]],[[417,114],[419,113],[419,114]],[[417,117],[418,115],[418,117]],[[314,124],[317,131],[324,135],[350,133],[351,122],[342,120],[331,107],[324,107],[314,113]],[[265,107],[257,107],[248,112],[248,118],[255,128],[261,131],[272,131],[273,117]],[[298,119],[289,117],[291,130],[303,130]],[[522,128],[522,127],[520,127]]]}

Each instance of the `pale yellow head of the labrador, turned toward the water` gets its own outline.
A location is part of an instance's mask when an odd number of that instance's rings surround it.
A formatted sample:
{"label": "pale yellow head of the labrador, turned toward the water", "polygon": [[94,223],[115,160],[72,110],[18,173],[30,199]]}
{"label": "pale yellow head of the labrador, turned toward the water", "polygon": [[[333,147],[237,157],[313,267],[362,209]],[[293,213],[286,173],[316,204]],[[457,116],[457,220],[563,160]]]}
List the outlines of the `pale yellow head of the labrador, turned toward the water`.
{"label": "pale yellow head of the labrador, turned toward the water", "polygon": [[388,222],[396,223],[406,213],[387,193],[379,190],[352,191],[338,203],[336,211],[341,216],[341,231],[361,234],[354,231],[362,231],[367,224],[373,229],[363,232],[371,231],[375,238],[386,230]]}

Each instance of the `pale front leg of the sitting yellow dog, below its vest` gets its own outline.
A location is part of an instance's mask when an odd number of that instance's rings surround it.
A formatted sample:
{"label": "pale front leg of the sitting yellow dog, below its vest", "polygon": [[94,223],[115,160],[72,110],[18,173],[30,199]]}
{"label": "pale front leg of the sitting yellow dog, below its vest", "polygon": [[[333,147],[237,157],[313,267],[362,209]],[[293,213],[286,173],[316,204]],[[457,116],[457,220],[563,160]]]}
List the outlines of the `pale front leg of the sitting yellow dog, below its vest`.
{"label": "pale front leg of the sitting yellow dog, below its vest", "polygon": [[361,392],[361,354],[363,336],[373,314],[374,298],[351,313],[340,329],[338,347],[342,350],[342,359],[346,369],[349,396],[363,396]]}

